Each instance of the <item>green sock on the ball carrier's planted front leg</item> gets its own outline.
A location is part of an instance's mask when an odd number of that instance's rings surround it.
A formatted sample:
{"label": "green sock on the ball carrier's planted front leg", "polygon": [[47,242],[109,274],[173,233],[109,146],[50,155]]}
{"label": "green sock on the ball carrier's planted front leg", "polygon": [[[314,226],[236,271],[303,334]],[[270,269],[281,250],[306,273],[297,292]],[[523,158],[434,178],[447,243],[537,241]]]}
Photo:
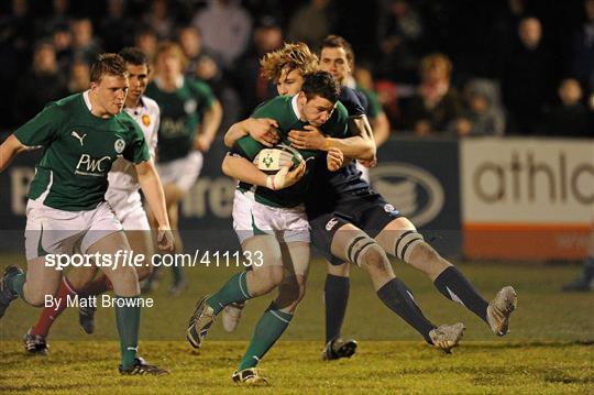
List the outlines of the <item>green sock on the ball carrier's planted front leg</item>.
{"label": "green sock on the ball carrier's planted front leg", "polygon": [[273,301],[257,321],[254,336],[250,345],[248,345],[248,351],[241,359],[238,371],[254,367],[276,340],[283,336],[292,318],[293,314],[279,310]]}

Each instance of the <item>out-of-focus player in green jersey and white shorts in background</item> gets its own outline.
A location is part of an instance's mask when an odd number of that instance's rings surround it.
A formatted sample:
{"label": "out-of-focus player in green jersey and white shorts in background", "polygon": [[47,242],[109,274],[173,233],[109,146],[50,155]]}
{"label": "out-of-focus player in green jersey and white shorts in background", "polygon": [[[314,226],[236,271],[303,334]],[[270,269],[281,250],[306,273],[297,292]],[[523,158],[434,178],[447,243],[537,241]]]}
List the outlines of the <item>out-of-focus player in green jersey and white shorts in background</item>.
{"label": "out-of-focus player in green jersey and white shorts in background", "polygon": [[[202,153],[210,150],[222,118],[221,105],[208,85],[184,76],[186,63],[178,44],[162,43],[156,53],[155,79],[146,88],[146,96],[161,106],[156,162],[177,252],[183,251],[177,230],[179,201],[196,183]],[[174,265],[172,270],[174,284],[169,292],[178,295],[187,281],[180,266]],[[153,276],[148,283],[152,279]]]}

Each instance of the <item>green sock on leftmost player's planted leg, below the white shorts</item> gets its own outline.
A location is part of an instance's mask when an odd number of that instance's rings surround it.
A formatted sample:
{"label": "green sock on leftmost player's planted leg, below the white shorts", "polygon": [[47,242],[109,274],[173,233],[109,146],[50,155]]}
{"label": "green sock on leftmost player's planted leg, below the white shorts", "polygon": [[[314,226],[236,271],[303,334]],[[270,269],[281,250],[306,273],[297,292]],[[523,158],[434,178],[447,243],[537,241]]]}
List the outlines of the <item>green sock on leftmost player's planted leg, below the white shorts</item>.
{"label": "green sock on leftmost player's planted leg, below the white shorts", "polygon": [[[122,353],[122,369],[128,369],[134,362],[139,351],[140,328],[140,296],[116,296],[116,321],[120,334],[120,351]],[[120,307],[118,301],[123,305]]]}

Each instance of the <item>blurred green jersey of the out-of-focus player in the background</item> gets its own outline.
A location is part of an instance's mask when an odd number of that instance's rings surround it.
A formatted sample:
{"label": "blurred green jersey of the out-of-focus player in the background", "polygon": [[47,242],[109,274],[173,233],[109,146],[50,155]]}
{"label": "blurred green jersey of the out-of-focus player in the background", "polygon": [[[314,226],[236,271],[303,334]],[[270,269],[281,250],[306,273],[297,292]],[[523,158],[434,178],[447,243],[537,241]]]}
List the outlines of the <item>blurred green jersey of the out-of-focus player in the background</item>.
{"label": "blurred green jersey of the out-of-focus player in the background", "polygon": [[212,106],[215,94],[208,85],[184,77],[173,92],[162,90],[157,81],[152,81],[146,96],[161,107],[157,161],[164,163],[186,156],[194,150],[196,130],[205,111]]}

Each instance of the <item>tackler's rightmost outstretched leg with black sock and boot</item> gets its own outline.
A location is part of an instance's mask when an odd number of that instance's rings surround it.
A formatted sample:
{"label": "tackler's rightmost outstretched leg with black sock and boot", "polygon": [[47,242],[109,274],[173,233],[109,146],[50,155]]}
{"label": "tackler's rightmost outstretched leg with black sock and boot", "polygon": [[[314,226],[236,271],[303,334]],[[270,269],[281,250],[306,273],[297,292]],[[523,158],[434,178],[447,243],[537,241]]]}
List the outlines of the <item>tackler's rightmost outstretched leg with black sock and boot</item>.
{"label": "tackler's rightmost outstretched leg with black sock and boot", "polygon": [[386,252],[427,274],[443,296],[474,312],[497,336],[507,333],[509,315],[516,308],[516,292],[513,287],[502,288],[487,303],[461,271],[424,240],[407,218],[392,220],[375,240]]}

